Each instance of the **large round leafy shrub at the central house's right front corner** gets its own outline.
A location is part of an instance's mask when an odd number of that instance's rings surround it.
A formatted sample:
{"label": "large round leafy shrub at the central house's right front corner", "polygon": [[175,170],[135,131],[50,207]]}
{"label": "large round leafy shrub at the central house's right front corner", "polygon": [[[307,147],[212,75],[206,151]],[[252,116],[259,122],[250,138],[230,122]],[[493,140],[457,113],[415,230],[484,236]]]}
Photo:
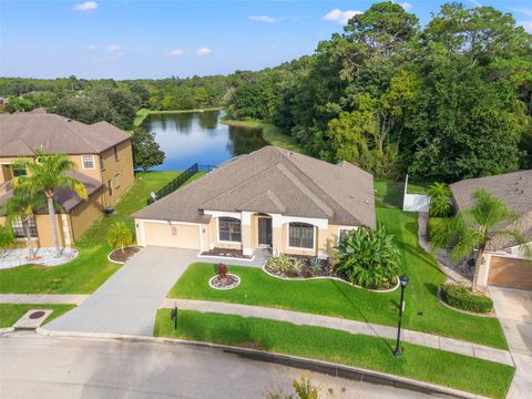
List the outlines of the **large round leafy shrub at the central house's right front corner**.
{"label": "large round leafy shrub at the central house's right front corner", "polygon": [[335,268],[351,284],[376,289],[396,282],[400,253],[383,226],[359,227],[338,244]]}

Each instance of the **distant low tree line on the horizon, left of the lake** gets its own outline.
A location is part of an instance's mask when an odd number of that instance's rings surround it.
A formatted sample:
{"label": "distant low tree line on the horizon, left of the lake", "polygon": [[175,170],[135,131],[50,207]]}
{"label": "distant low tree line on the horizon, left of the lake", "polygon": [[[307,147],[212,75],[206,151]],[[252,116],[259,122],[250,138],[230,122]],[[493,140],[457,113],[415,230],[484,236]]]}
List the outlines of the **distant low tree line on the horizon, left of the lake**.
{"label": "distant low tree line on the horizon, left of the lake", "polygon": [[27,112],[44,106],[85,123],[108,121],[132,127],[136,111],[190,110],[221,106],[227,76],[170,78],[162,80],[12,79],[0,78],[0,95],[8,98],[6,112]]}

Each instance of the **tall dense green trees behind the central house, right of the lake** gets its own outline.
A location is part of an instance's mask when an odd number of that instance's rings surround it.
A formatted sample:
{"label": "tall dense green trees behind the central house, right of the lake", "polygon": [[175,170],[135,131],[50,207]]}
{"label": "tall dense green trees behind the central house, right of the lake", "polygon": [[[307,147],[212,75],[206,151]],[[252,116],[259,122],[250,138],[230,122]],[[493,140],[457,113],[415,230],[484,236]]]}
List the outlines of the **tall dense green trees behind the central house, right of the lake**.
{"label": "tall dense green trees behind the central house, right of the lake", "polygon": [[491,7],[443,4],[420,28],[392,2],[311,57],[232,76],[232,117],[378,176],[456,181],[532,167],[532,37]]}

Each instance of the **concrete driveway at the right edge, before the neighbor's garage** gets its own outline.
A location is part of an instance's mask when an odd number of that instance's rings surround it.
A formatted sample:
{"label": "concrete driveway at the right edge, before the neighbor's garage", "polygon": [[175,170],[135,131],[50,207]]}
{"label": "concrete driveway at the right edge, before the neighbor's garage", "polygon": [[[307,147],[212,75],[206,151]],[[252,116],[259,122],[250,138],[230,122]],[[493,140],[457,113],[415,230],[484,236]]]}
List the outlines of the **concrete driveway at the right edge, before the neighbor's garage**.
{"label": "concrete driveway at the right edge, before the neighbor's garage", "polygon": [[528,398],[532,392],[532,290],[489,289],[516,368],[507,398]]}

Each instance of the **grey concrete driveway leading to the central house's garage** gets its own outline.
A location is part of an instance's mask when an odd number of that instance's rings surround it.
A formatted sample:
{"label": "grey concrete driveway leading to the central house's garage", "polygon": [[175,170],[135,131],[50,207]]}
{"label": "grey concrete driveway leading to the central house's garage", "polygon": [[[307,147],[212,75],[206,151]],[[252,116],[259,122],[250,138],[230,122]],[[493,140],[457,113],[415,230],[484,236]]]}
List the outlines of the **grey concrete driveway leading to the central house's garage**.
{"label": "grey concrete driveway leading to the central house's garage", "polygon": [[195,249],[145,247],[50,330],[152,336],[155,313]]}

